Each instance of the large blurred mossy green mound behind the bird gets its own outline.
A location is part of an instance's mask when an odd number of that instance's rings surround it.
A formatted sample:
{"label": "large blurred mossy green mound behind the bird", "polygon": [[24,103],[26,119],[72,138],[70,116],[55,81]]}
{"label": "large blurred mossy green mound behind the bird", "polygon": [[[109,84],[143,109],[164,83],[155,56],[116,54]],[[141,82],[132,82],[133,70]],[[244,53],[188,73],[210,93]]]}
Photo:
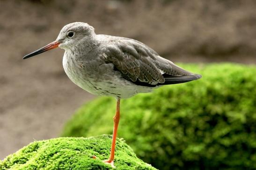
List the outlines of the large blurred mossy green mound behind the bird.
{"label": "large blurred mossy green mound behind the bird", "polygon": [[[182,65],[200,80],[121,101],[118,136],[161,170],[256,169],[256,67]],[[82,106],[62,136],[112,133],[116,100]]]}

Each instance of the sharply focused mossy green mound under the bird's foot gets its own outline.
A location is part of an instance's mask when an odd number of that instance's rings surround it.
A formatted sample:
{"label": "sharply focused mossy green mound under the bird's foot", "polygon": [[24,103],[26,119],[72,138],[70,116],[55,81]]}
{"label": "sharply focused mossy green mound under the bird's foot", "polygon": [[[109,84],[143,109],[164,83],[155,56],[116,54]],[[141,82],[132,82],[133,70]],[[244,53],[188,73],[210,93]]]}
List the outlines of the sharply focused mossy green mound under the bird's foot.
{"label": "sharply focused mossy green mound under the bird's foot", "polygon": [[[109,157],[111,139],[103,135],[35,141],[0,161],[0,170],[111,170],[102,162]],[[137,158],[122,139],[117,139],[115,166],[115,170],[156,170]]]}

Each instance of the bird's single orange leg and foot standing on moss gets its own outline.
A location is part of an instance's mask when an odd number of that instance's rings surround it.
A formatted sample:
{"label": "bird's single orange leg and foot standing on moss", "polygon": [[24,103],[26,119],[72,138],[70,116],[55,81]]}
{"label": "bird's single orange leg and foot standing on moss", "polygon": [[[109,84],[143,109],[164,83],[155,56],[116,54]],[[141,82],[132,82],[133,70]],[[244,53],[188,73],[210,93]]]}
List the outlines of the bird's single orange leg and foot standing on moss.
{"label": "bird's single orange leg and foot standing on moss", "polygon": [[113,136],[112,136],[110,158],[108,160],[103,161],[104,163],[110,164],[113,168],[115,168],[114,157],[115,157],[115,147],[116,147],[117,128],[118,128],[119,119],[120,119],[120,98],[117,99],[116,115],[113,117],[114,129],[113,129]]}

